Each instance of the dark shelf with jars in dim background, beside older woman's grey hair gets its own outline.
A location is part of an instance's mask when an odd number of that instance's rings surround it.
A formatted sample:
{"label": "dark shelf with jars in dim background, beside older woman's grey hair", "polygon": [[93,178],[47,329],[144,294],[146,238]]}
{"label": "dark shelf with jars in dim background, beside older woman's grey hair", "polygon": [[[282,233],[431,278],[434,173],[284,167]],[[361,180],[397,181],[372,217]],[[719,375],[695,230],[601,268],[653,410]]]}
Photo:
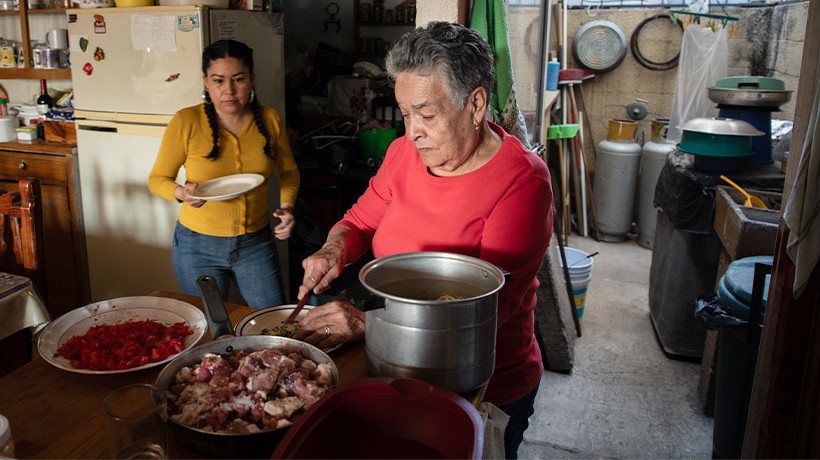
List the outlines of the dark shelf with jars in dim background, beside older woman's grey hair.
{"label": "dark shelf with jars in dim background, beside older woman's grey hair", "polygon": [[415,0],[355,0],[353,45],[362,56],[384,58],[393,42],[415,27]]}

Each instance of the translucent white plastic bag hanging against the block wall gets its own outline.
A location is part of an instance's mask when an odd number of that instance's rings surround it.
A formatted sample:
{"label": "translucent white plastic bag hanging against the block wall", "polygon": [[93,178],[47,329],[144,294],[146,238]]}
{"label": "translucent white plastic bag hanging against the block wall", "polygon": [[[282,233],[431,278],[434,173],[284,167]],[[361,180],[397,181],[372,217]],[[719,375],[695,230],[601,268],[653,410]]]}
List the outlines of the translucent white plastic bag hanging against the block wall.
{"label": "translucent white plastic bag hanging against the block wall", "polygon": [[692,118],[717,116],[708,89],[726,76],[729,61],[728,32],[690,25],[683,31],[678,79],[666,139],[680,142],[681,126]]}

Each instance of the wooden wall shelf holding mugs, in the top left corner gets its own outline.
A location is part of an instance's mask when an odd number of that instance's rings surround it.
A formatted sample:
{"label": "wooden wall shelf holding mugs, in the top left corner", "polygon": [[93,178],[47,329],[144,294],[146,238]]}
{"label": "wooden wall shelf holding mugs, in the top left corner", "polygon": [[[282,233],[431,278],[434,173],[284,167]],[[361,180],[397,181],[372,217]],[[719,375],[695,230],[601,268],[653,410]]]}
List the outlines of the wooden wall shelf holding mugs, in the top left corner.
{"label": "wooden wall shelf holding mugs, in the top left corner", "polygon": [[[46,29],[49,24],[53,27],[65,28],[66,16],[65,8],[40,8],[29,9],[27,2],[21,0],[19,10],[3,10],[0,11],[0,23],[3,27],[0,28],[0,35],[5,40],[19,40],[22,48],[23,59],[22,66],[18,67],[0,67],[0,79],[55,79],[55,80],[70,80],[71,69],[41,69],[33,66],[33,52],[31,41],[43,41],[44,38],[34,31],[40,30],[43,27],[38,27],[35,23],[43,23]],[[15,27],[17,26],[17,27]],[[18,28],[19,27],[19,28]],[[45,33],[42,34],[45,37]],[[18,51],[19,53],[19,51]]]}

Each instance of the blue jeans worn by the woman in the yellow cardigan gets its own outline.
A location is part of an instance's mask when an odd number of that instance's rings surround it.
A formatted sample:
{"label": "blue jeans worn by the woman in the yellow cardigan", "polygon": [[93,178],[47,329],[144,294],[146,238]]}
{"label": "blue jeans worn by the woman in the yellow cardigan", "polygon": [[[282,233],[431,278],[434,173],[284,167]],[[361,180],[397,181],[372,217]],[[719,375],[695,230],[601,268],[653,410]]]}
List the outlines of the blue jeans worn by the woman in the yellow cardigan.
{"label": "blue jeans worn by the woman in the yellow cardigan", "polygon": [[228,299],[233,279],[251,308],[285,303],[279,255],[270,227],[221,237],[197,233],[177,222],[172,254],[174,274],[186,294],[200,295],[197,278],[211,275],[216,278],[222,300]]}

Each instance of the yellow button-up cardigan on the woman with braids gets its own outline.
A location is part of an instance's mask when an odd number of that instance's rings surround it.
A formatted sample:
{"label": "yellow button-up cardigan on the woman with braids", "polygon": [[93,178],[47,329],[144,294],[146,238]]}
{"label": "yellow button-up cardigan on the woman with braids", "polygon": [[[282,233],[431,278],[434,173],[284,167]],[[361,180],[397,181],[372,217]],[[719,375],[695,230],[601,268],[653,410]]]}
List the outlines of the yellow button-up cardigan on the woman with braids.
{"label": "yellow button-up cardigan on the woman with braids", "polygon": [[296,203],[299,170],[285,127],[276,110],[262,107],[262,115],[271,138],[273,159],[263,151],[265,138],[253,117],[248,118],[238,136],[219,130],[220,151],[216,160],[205,158],[211,152],[213,137],[203,104],[184,108],[171,118],[148,177],[148,188],[155,195],[176,201],[174,189],[180,185],[176,178],[182,167],[187,182],[200,183],[239,173],[265,177],[264,184],[237,198],[209,201],[199,208],[183,203],[179,212],[182,225],[211,236],[238,236],[264,228],[269,223],[268,179],[274,172],[279,180],[281,205]]}

